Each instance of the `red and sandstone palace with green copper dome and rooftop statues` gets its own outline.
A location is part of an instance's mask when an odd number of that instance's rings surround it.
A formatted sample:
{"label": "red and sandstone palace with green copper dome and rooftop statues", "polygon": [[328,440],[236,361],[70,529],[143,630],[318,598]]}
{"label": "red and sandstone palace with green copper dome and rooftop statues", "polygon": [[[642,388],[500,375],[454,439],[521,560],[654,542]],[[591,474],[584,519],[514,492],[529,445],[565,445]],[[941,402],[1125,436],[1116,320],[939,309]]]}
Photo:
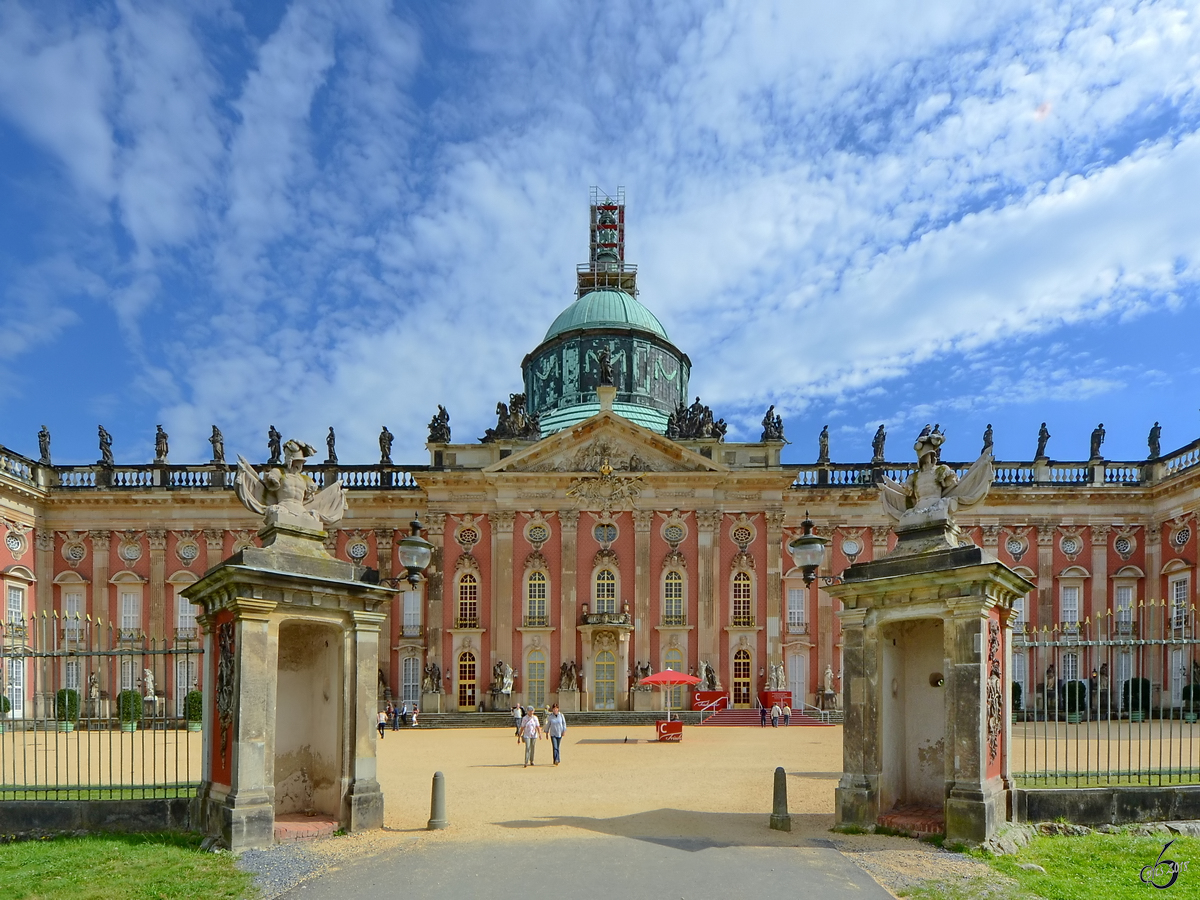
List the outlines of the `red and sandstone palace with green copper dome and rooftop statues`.
{"label": "red and sandstone palace with green copper dome and rooftop statues", "polygon": [[[341,479],[348,490],[349,510],[328,536],[338,558],[382,580],[402,576],[397,542],[414,517],[436,546],[425,580],[389,611],[384,696],[419,702],[437,666],[440,708],[476,709],[491,703],[503,662],[514,670],[512,701],[545,706],[574,664],[581,706],[643,708],[661,702],[632,690],[635,667],[648,664],[710,666],[734,706],[751,706],[782,664],[793,708],[818,706],[827,668],[841,690],[839,605],[827,580],[894,540],[880,484],[912,472],[914,436],[893,440],[899,452],[886,452],[880,436],[868,462],[832,462],[823,451],[816,463],[785,466],[782,424],[768,410],[760,442],[726,442],[724,422],[689,397],[691,360],[625,262],[623,196],[593,192],[589,223],[576,296],[524,358],[524,394],[498,404],[496,427],[454,440],[442,412],[427,463],[394,464],[385,449],[379,463],[331,454],[306,469],[318,485]],[[1012,679],[1026,695],[1045,677],[1022,649],[1038,635],[1079,636],[1076,649],[1055,650],[1058,677],[1074,680],[1099,664],[1100,632],[1153,634],[1139,660],[1104,659],[1115,679],[1133,666],[1150,673],[1154,704],[1177,706],[1193,678],[1170,636],[1194,641],[1200,440],[1134,462],[1105,460],[1093,443],[1091,460],[997,461],[990,493],[959,523],[1036,584],[1015,625]],[[961,451],[960,439],[950,445]],[[55,466],[48,454],[0,448],[0,676],[11,716],[47,707],[14,652],[32,629],[109,628],[131,658],[151,641],[198,647],[196,612],[180,592],[257,540],[233,468],[216,444],[214,455]],[[806,515],[829,540],[808,584],[787,552]],[[78,662],[64,656],[62,666],[55,684],[88,683]],[[194,661],[181,666],[155,673],[169,708],[196,686]],[[128,683],[101,688],[115,696],[142,671],[131,664],[106,676]],[[673,704],[689,702],[676,694]]]}

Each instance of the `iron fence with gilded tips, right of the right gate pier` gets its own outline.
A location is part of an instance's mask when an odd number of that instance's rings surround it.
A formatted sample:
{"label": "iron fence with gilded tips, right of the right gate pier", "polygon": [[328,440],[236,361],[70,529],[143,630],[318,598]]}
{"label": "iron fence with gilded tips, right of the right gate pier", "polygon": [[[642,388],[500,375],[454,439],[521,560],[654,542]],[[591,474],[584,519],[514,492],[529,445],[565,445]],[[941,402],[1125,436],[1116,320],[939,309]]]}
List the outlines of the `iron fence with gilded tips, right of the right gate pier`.
{"label": "iron fence with gilded tips, right of the right gate pier", "polygon": [[1012,770],[1024,786],[1200,782],[1195,607],[1018,625]]}

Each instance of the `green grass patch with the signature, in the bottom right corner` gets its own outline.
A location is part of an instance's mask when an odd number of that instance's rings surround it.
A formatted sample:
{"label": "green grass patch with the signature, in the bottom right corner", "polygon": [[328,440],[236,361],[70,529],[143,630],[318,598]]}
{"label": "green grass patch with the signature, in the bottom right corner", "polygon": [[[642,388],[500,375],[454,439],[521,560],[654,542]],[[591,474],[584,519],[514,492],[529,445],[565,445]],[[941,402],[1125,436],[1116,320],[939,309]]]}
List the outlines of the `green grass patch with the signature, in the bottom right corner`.
{"label": "green grass patch with the signature, in the bottom right corner", "polygon": [[[1176,838],[1165,858],[1188,863],[1174,886],[1158,894],[1139,876],[1152,865],[1171,835],[1088,834],[1078,838],[1037,836],[1016,856],[985,859],[1006,878],[972,878],[955,882],[926,882],[906,896],[913,900],[1144,900],[1147,896],[1200,895],[1200,838]],[[1045,875],[1027,871],[1020,863],[1036,863]],[[1015,882],[1015,886],[1014,886]]]}

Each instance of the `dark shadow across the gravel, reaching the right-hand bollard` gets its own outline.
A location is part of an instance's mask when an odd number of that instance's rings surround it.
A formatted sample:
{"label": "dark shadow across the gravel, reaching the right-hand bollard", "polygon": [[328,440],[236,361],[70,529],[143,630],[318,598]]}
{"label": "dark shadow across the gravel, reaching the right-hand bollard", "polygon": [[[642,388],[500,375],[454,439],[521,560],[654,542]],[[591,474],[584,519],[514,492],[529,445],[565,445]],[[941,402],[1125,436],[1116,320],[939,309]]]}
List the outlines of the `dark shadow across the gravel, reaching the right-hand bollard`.
{"label": "dark shadow across the gravel, reaching the right-hand bollard", "polygon": [[792,816],[792,832],[772,830],[768,827],[769,818],[766,814],[656,809],[613,818],[547,816],[496,824],[524,830],[577,828],[692,852],[713,847],[833,846],[827,838],[821,836],[833,826],[833,816]]}

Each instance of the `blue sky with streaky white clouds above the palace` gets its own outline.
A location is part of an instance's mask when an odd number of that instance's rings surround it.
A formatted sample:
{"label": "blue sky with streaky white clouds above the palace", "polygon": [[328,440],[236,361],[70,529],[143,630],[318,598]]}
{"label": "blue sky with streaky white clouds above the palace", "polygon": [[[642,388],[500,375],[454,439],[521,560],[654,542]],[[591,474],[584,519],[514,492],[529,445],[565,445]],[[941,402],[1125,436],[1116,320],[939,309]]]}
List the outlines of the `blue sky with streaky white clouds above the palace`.
{"label": "blue sky with streaky white clouds above the palace", "polygon": [[[500,10],[505,10],[500,12]],[[860,461],[1200,437],[1195,4],[0,0],[0,443],[426,462],[623,185],[692,394]]]}

